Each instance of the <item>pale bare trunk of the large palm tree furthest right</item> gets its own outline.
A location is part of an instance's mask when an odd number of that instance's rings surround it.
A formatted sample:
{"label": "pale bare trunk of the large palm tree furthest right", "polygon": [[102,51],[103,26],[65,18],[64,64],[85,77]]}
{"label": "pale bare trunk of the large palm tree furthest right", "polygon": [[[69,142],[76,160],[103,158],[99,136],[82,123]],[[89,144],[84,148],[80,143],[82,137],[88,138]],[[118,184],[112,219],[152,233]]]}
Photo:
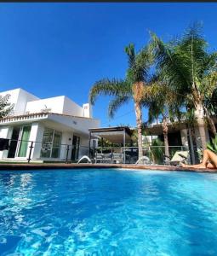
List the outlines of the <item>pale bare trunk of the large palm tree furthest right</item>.
{"label": "pale bare trunk of the large palm tree furthest right", "polygon": [[197,118],[198,130],[201,138],[201,145],[203,150],[207,148],[207,140],[206,140],[206,131],[205,131],[205,122],[204,122],[204,110],[202,102],[196,102],[196,111],[195,116]]}

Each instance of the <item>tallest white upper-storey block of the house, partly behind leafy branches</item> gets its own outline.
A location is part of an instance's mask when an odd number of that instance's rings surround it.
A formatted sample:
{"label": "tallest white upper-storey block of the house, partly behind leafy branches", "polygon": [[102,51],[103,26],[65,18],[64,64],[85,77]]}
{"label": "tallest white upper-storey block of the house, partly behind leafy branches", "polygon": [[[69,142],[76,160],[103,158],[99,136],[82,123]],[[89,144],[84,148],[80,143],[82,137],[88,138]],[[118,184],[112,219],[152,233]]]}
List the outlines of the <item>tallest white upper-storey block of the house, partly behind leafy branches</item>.
{"label": "tallest white upper-storey block of the house, partly behind leafy branches", "polygon": [[0,93],[0,96],[10,95],[9,102],[14,104],[14,109],[10,115],[22,115],[26,110],[26,103],[30,101],[35,101],[38,99],[37,96],[32,95],[26,90],[20,88],[14,90],[7,90]]}

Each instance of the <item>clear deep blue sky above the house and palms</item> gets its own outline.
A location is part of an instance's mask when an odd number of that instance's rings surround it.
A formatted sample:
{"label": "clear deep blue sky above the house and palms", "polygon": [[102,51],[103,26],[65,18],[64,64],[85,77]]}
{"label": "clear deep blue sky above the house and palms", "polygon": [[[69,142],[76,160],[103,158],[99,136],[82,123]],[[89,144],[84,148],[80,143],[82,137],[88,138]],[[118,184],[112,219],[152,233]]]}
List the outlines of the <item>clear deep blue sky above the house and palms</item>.
{"label": "clear deep blue sky above the house and palms", "polygon": [[[217,3],[0,3],[0,88],[83,104],[96,80],[124,78],[124,47],[140,49],[149,30],[168,40],[203,21],[216,49],[216,17]],[[100,97],[94,106],[102,126],[135,124],[132,103],[109,120],[108,102]]]}

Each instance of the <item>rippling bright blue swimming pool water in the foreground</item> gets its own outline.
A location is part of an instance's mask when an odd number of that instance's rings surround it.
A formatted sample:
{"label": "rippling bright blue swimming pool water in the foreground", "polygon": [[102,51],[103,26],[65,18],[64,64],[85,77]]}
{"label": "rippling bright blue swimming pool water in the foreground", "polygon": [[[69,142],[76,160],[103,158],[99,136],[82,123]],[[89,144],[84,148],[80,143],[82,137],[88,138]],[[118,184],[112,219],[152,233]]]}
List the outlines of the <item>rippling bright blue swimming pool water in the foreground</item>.
{"label": "rippling bright blue swimming pool water in the foreground", "polygon": [[217,255],[217,174],[0,172],[1,255]]}

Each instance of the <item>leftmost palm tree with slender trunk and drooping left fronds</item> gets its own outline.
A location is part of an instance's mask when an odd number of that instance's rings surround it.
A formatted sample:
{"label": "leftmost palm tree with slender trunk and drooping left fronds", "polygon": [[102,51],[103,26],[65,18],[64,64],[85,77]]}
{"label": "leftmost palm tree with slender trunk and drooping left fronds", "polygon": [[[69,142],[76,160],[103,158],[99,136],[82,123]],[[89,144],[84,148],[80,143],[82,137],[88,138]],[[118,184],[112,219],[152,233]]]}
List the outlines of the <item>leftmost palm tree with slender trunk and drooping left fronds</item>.
{"label": "leftmost palm tree with slender trunk and drooping left fronds", "polygon": [[148,46],[135,52],[134,44],[125,48],[128,55],[128,70],[125,79],[100,79],[91,88],[89,100],[94,105],[97,96],[113,96],[108,113],[113,118],[115,112],[129,100],[134,102],[136,125],[138,131],[139,157],[142,156],[142,98],[146,84],[149,83],[151,54]]}

